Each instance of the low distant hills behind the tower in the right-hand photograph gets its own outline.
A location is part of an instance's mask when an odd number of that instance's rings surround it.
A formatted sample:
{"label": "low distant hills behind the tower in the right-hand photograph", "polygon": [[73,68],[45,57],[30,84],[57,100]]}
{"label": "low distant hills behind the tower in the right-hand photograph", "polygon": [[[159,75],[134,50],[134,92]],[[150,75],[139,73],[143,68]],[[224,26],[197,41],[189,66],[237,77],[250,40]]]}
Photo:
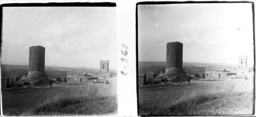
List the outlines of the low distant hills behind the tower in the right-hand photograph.
{"label": "low distant hills behind the tower in the right-hand photograph", "polygon": [[[149,66],[166,66],[166,62],[147,62],[147,61],[139,61],[138,67],[149,67]],[[237,67],[236,64],[223,64],[223,63],[199,63],[199,62],[183,62],[183,67],[186,66],[196,66],[196,67],[208,67],[208,66],[229,66],[229,67]]]}

